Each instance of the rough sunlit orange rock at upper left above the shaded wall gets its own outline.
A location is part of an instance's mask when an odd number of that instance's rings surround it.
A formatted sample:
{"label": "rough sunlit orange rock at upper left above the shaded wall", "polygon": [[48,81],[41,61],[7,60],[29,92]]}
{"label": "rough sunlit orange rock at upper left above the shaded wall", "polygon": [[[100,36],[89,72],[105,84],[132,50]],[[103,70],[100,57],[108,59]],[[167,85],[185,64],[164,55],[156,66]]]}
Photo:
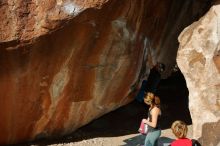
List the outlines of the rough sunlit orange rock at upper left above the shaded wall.
{"label": "rough sunlit orange rock at upper left above the shaded wall", "polygon": [[56,29],[62,20],[108,0],[1,0],[0,41],[25,41]]}

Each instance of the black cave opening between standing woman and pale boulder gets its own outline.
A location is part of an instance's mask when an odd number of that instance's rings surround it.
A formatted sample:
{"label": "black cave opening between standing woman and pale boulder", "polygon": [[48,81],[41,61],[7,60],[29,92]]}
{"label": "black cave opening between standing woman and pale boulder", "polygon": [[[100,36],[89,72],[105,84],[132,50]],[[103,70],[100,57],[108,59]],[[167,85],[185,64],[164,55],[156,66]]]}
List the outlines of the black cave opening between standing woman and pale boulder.
{"label": "black cave opening between standing woman and pale boulder", "polygon": [[173,121],[182,120],[192,124],[189,111],[189,91],[180,70],[174,72],[167,79],[162,79],[158,89],[161,97],[163,119],[162,127],[169,128]]}

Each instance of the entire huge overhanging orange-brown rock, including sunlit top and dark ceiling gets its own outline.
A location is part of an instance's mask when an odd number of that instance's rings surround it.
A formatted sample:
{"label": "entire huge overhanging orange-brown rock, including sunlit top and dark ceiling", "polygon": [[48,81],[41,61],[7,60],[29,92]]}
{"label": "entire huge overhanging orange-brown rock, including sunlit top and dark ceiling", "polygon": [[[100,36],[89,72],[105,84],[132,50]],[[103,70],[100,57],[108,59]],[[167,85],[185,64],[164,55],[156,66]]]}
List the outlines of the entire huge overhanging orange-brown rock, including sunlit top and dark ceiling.
{"label": "entire huge overhanging orange-brown rock, including sunlit top and dark ceiling", "polygon": [[175,64],[178,34],[208,6],[1,0],[0,144],[68,134],[132,101],[149,64]]}

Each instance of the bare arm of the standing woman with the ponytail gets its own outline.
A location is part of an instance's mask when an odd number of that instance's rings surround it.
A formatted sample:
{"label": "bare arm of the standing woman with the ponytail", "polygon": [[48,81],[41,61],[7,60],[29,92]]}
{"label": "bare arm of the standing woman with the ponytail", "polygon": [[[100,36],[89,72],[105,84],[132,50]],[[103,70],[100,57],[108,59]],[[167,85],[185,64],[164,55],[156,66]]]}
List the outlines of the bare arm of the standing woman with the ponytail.
{"label": "bare arm of the standing woman with the ponytail", "polygon": [[143,122],[153,128],[155,128],[157,126],[157,119],[158,119],[158,115],[160,113],[159,108],[155,107],[151,110],[151,115],[152,115],[152,121],[149,120],[149,118],[146,120],[144,120]]}

